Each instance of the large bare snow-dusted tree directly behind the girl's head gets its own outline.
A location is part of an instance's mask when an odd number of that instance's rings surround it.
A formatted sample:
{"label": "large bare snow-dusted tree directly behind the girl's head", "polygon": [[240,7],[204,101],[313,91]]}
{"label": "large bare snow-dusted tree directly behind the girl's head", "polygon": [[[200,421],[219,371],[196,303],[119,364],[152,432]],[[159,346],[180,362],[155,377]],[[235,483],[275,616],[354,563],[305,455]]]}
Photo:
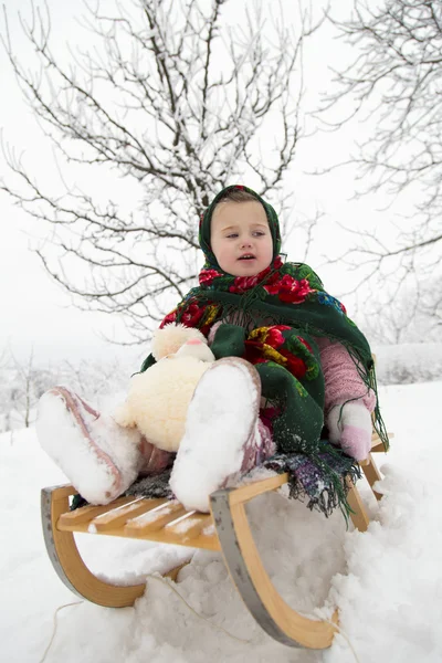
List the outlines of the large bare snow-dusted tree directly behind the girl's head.
{"label": "large bare snow-dusted tree directly behind the girl's head", "polygon": [[[236,17],[229,23],[228,7]],[[22,28],[40,63],[21,62],[6,20],[3,44],[29,105],[56,149],[64,190],[41,183],[3,145],[1,188],[52,225],[49,273],[78,305],[123,314],[131,339],[148,337],[198,274],[198,218],[228,183],[250,181],[280,211],[301,134],[302,46],[320,24],[299,10],[297,33],[274,6],[228,0],[133,0],[87,7],[90,49],[63,65],[50,15]],[[67,165],[108,168],[138,186],[127,212],[69,182]],[[103,172],[103,170],[102,170]],[[84,269],[86,267],[86,269]]]}

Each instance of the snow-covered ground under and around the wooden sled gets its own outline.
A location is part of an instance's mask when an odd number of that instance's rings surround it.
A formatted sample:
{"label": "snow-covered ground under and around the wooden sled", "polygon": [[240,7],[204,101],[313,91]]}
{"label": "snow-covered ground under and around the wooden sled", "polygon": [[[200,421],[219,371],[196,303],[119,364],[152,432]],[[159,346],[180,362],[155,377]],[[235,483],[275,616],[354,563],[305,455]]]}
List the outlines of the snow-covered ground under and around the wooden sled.
{"label": "snow-covered ground under and around the wooden sled", "polygon": [[[197,551],[177,585],[148,578],[134,608],[77,602],[52,569],[40,526],[40,488],[64,478],[33,430],[0,435],[0,660],[42,661],[56,609],[74,603],[56,614],[45,663],[440,663],[442,382],[383,387],[380,398],[396,436],[389,455],[378,455],[379,506],[360,482],[373,518],[366,534],[346,530],[340,514],[326,520],[278,494],[250,506],[262,557],[285,600],[307,613],[339,608],[345,635],[324,653],[263,633],[219,554]],[[187,554],[93,535],[80,545],[93,570],[126,581]]]}

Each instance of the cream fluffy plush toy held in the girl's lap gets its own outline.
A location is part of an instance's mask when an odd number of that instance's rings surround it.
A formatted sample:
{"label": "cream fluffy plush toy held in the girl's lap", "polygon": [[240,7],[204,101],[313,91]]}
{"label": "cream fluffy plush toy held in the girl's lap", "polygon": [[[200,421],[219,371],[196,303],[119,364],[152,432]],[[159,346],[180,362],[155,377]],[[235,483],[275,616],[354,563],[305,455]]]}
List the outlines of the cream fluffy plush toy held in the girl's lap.
{"label": "cream fluffy plush toy held in the girl's lap", "polygon": [[157,364],[131,378],[114,419],[119,425],[137,427],[155,446],[177,451],[194,388],[214,356],[201,332],[180,324],[158,329],[151,352]]}

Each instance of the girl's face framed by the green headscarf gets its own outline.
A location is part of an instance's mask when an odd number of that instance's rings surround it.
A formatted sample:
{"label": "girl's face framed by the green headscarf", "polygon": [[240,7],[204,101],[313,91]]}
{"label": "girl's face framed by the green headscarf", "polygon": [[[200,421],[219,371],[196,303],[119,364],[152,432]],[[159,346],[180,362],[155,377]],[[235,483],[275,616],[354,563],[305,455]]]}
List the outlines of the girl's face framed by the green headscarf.
{"label": "girl's face framed by the green headscarf", "polygon": [[210,241],[221,270],[232,276],[255,276],[273,259],[267,217],[254,200],[220,202],[211,219]]}

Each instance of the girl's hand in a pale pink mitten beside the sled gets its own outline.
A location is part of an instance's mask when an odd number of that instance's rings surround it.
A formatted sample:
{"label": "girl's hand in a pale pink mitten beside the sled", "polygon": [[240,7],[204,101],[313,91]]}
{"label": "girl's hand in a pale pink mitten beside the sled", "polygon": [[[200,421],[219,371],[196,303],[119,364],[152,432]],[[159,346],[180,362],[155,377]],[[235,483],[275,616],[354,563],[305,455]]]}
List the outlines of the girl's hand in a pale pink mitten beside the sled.
{"label": "girl's hand in a pale pink mitten beside the sled", "polygon": [[[339,419],[340,417],[340,419]],[[327,415],[329,440],[338,444],[348,455],[364,461],[371,449],[371,414],[358,402],[338,403]]]}

